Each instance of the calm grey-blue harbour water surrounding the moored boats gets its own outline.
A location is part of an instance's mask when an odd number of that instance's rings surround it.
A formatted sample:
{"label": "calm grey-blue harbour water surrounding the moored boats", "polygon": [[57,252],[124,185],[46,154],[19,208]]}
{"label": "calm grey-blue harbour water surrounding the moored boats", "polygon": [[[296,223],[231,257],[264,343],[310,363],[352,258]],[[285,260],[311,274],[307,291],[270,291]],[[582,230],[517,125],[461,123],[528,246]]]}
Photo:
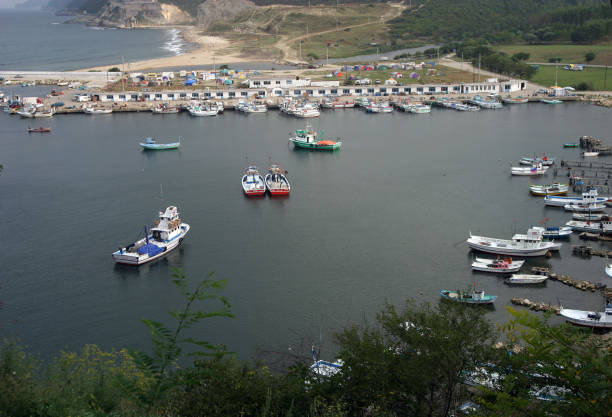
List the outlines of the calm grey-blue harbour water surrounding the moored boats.
{"label": "calm grey-blue harbour water surrounding the moored boats", "polygon": [[[184,268],[195,284],[226,278],[235,319],[214,319],[198,336],[243,357],[287,351],[300,341],[333,349],[331,334],[372,320],[385,301],[436,302],[442,288],[473,282],[499,295],[488,314],[503,322],[512,297],[599,308],[596,294],[557,282],[510,288],[470,270],[468,231],[509,237],[562,210],[531,197],[509,162],[547,152],[578,159],[562,143],[609,139],[610,110],[583,104],[528,104],[429,115],[330,111],[313,127],[341,136],[336,153],[294,150],[288,133],[303,121],[277,112],[212,118],[186,114],[56,116],[48,135],[32,121],[0,114],[0,335],[34,351],[85,343],[149,346],[140,318],[166,320],[181,306],[171,281]],[[182,136],[178,151],[143,152],[146,135]],[[285,199],[247,199],[249,163],[289,171]],[[562,179],[562,178],[558,178]],[[552,181],[551,175],[544,181]],[[139,268],[113,264],[160,209],[177,205],[191,231],[166,258]],[[602,258],[571,255],[573,236],[550,260],[559,273],[610,284]],[[592,243],[598,246],[598,243]],[[307,353],[304,352],[304,353]]]}

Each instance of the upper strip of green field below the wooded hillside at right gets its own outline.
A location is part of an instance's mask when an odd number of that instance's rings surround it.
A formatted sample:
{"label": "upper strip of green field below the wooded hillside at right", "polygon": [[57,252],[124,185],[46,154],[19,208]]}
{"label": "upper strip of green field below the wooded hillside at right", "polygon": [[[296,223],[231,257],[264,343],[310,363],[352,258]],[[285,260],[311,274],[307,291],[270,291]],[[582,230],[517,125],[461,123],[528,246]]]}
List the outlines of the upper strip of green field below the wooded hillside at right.
{"label": "upper strip of green field below the wooded hillside at right", "polygon": [[548,62],[549,58],[561,58],[567,64],[584,64],[587,52],[595,53],[593,65],[612,65],[612,43],[597,45],[502,45],[496,50],[514,55],[517,52],[527,52],[528,62]]}

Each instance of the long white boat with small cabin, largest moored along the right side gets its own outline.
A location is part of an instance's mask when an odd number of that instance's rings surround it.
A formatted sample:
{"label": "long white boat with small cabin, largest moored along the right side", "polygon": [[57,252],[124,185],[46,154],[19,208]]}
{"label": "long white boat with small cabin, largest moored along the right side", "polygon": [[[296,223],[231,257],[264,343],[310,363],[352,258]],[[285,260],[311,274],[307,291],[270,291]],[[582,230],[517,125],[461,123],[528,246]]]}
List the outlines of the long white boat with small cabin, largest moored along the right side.
{"label": "long white boat with small cabin, largest moored along the right side", "polygon": [[561,248],[561,243],[544,242],[542,239],[542,231],[534,228],[527,230],[525,235],[515,234],[511,240],[474,236],[470,232],[467,244],[481,252],[521,257],[544,256],[549,251]]}

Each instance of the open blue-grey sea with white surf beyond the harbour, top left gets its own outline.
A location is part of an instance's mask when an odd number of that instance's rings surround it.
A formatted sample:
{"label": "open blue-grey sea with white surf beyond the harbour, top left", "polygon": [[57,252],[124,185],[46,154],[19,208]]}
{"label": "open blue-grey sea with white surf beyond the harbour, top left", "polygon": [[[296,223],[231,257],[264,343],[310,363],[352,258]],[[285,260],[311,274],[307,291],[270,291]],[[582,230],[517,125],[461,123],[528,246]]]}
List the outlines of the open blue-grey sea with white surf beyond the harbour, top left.
{"label": "open blue-grey sea with white surf beyond the harbour, top left", "polygon": [[0,10],[0,71],[63,71],[178,55],[176,29],[102,29],[51,13]]}

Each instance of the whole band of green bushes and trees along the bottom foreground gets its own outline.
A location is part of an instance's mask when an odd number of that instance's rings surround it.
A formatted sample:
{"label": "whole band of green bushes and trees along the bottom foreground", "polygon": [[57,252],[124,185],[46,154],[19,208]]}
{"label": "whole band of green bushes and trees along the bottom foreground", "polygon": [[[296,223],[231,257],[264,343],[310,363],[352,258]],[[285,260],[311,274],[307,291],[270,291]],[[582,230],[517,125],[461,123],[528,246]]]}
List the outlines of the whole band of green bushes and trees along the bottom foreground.
{"label": "whole band of green bushes and trees along the bottom foreground", "polygon": [[[481,416],[609,416],[612,409],[609,338],[526,312],[511,310],[509,324],[496,329],[479,308],[386,305],[375,324],[337,333],[342,371],[323,377],[308,362],[272,372],[185,338],[201,320],[231,317],[230,305],[219,294],[224,282],[212,276],[193,290],[180,271],[174,281],[186,305],[171,312],[173,329],[143,320],[151,353],[85,346],[43,366],[3,341],[0,416],[447,416],[468,399]],[[502,337],[508,346],[494,346]],[[186,354],[185,345],[196,350]],[[184,366],[187,357],[194,360]]]}

